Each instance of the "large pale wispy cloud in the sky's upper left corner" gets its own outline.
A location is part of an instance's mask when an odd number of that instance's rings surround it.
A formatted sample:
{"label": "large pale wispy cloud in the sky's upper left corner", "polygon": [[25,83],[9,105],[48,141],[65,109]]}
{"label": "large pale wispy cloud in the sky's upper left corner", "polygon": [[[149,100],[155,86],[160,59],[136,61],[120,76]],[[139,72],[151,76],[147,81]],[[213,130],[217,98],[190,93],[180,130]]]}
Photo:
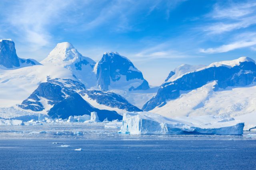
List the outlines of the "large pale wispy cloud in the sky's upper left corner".
{"label": "large pale wispy cloud in the sky's upper left corner", "polygon": [[16,1],[15,5],[8,6],[8,10],[1,7],[5,14],[1,26],[8,25],[15,37],[38,49],[49,43],[49,28],[58,22],[68,4],[68,1],[62,0]]}

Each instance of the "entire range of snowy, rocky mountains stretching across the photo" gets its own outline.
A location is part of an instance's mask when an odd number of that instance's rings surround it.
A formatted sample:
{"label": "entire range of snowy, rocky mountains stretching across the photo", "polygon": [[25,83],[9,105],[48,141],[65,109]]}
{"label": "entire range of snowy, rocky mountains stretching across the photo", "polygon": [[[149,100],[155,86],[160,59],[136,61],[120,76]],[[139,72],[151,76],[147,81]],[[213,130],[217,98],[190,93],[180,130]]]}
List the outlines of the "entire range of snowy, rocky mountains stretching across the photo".
{"label": "entire range of snowy, rocky mountains stretching across the photo", "polygon": [[234,117],[250,128],[256,126],[255,81],[255,62],[240,57],[209,66],[183,64],[152,89],[117,52],[104,53],[96,63],[64,42],[39,63],[19,58],[11,39],[0,40],[0,112],[14,107],[66,119],[96,111],[103,121],[144,110],[166,117]]}

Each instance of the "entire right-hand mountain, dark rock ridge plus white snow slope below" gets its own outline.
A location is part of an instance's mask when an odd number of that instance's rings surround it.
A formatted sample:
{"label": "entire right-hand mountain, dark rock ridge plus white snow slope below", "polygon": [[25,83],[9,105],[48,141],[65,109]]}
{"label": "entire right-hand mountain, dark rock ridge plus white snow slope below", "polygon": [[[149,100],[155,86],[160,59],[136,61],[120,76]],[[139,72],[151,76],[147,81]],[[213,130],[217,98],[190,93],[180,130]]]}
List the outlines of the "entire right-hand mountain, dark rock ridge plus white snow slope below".
{"label": "entire right-hand mountain, dark rock ridge plus white snow slope below", "polygon": [[255,78],[256,64],[248,57],[212,63],[170,76],[143,109],[166,117],[231,116],[254,127]]}

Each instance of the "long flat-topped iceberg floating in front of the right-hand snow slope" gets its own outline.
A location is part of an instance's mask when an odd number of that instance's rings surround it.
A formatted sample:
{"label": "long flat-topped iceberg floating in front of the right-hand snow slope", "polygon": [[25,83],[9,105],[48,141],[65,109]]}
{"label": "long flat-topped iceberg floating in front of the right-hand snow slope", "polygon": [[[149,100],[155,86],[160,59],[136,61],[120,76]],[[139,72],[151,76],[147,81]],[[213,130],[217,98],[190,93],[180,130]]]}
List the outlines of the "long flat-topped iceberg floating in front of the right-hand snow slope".
{"label": "long flat-topped iceberg floating in front of the right-hand snow slope", "polygon": [[230,118],[200,116],[170,119],[149,112],[125,113],[120,133],[242,135],[244,123]]}

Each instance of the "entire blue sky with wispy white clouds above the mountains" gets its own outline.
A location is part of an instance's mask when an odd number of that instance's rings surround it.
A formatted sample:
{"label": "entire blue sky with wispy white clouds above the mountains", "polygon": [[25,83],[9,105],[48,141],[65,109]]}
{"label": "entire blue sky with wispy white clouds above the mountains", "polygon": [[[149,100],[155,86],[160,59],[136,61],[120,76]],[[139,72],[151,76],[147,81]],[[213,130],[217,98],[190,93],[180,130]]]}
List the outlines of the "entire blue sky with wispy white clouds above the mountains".
{"label": "entire blue sky with wispy white clouds above the mountains", "polygon": [[181,64],[256,60],[255,0],[1,0],[0,39],[42,61],[60,42],[99,61],[117,51],[159,86]]}

